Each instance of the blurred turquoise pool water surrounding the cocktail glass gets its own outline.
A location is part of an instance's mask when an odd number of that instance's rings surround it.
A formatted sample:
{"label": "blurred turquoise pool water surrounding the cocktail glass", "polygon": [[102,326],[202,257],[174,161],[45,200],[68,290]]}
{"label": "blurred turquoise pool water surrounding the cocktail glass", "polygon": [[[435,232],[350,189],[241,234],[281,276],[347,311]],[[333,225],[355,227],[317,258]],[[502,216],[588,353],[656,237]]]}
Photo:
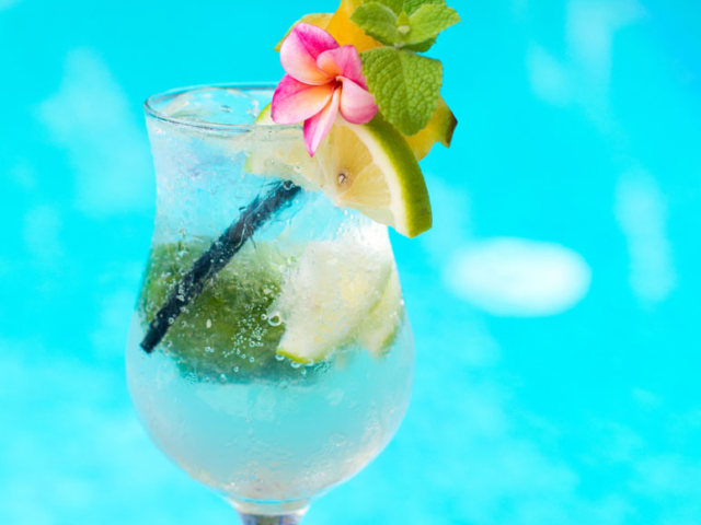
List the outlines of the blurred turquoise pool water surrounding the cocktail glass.
{"label": "blurred turquoise pool water surrounding the cocktail glass", "polygon": [[[333,1],[0,0],[0,523],[234,523],[147,439],[123,353],[154,186],[141,102],[276,81]],[[418,350],[388,450],[309,525],[701,516],[701,4],[455,0]]]}

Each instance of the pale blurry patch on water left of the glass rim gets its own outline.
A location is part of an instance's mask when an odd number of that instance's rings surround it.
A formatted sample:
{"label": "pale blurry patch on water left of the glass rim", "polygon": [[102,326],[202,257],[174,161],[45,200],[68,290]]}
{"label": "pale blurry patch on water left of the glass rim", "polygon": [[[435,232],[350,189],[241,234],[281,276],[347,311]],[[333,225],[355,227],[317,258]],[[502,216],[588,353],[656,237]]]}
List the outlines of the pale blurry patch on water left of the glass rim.
{"label": "pale blurry patch on water left of the glass rim", "polygon": [[39,105],[39,119],[68,153],[81,211],[100,217],[151,206],[148,142],[134,107],[103,59],[84,48],[68,54],[58,92]]}

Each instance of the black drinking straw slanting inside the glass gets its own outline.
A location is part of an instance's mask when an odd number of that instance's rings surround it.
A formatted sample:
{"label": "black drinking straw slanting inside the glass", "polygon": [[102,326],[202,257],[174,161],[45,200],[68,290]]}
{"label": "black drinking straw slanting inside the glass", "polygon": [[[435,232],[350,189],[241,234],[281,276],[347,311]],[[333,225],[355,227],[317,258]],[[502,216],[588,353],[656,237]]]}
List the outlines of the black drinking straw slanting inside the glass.
{"label": "black drinking straw slanting inside the glass", "polygon": [[209,282],[241,249],[255,231],[297,196],[301,188],[290,182],[280,183],[264,199],[256,197],[185,273],[158,311],[141,341],[151,353],[165,337],[170,326],[187,305],[197,299]]}

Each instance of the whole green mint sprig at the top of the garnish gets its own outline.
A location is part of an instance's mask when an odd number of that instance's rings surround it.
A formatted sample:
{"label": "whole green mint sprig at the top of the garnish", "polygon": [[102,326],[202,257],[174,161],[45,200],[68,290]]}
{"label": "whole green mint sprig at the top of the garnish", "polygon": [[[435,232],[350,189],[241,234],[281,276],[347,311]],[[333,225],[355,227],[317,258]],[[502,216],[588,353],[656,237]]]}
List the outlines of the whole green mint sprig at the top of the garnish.
{"label": "whole green mint sprig at the top of the garnish", "polygon": [[436,110],[443,84],[441,63],[417,52],[460,16],[445,0],[366,0],[350,20],[388,46],[360,54],[380,113],[402,135],[416,135]]}

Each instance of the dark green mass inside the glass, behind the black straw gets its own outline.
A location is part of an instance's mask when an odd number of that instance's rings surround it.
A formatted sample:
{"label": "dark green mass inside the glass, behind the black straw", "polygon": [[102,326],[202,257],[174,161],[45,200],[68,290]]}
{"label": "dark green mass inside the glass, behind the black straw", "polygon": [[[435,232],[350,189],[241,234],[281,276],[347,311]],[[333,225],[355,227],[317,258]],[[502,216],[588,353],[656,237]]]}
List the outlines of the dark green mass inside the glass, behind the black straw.
{"label": "dark green mass inside the glass, behind the black straw", "polygon": [[[153,246],[139,299],[145,329],[208,245],[193,241]],[[157,351],[172,357],[183,374],[200,378],[298,376],[299,370],[276,358],[284,325],[274,326],[266,317],[281,282],[277,264],[284,258],[269,244],[243,248],[175,319]]]}

